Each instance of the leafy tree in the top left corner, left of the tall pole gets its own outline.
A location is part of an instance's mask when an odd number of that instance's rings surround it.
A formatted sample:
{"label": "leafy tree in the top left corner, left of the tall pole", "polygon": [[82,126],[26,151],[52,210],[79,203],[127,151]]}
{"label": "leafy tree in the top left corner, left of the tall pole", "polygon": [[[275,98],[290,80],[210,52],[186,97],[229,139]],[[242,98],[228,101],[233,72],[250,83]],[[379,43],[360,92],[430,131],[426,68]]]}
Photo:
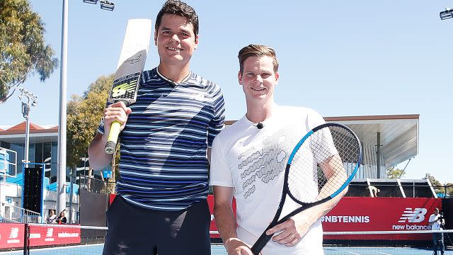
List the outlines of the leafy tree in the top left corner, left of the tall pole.
{"label": "leafy tree in the top left corner, left of the tall pole", "polygon": [[[41,81],[50,77],[58,60],[45,45],[44,23],[30,8],[28,0],[0,1],[0,104],[37,72]],[[16,89],[16,88],[14,88]]]}

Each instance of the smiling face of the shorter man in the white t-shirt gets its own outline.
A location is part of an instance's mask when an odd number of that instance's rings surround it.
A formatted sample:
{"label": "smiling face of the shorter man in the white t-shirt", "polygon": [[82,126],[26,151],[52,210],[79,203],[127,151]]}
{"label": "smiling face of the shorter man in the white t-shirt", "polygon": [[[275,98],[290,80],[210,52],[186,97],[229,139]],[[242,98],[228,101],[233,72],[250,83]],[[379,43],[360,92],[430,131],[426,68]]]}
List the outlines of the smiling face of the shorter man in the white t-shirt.
{"label": "smiling face of the shorter man in the white t-shirt", "polygon": [[243,72],[239,72],[238,79],[248,102],[267,101],[273,98],[278,81],[278,73],[274,72],[273,58],[248,57],[243,62]]}

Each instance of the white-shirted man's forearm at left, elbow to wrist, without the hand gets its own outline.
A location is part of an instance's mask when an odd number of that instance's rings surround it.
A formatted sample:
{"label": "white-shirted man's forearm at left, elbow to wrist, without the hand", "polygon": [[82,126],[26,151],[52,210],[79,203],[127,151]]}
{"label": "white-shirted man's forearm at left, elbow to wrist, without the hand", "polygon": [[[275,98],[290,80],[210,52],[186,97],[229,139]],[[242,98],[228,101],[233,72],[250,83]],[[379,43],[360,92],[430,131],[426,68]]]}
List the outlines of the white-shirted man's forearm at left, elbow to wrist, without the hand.
{"label": "white-shirted man's forearm at left, elbow to wrist, without the hand", "polygon": [[231,205],[215,205],[214,219],[217,229],[219,229],[220,237],[226,244],[230,239],[237,238],[236,234],[236,219],[234,218]]}

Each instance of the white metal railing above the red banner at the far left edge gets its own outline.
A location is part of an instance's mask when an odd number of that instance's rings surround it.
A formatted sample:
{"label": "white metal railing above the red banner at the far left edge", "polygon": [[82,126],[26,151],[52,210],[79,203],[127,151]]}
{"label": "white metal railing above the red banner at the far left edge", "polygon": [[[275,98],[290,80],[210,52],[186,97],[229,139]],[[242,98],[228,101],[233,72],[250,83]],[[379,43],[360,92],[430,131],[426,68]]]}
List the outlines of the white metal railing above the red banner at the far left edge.
{"label": "white metal railing above the red banner at the far left edge", "polygon": [[0,202],[0,222],[8,223],[41,223],[39,212]]}

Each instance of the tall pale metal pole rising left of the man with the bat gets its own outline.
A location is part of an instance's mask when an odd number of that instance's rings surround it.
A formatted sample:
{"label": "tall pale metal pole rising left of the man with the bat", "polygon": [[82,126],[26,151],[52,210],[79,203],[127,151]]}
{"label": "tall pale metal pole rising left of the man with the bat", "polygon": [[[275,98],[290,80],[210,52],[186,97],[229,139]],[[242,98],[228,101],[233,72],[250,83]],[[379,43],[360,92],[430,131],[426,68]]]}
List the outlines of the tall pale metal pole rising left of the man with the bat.
{"label": "tall pale metal pole rising left of the man with the bat", "polygon": [[66,88],[67,88],[67,34],[68,1],[63,0],[62,9],[62,55],[59,77],[59,125],[58,125],[58,169],[57,211],[66,209]]}

